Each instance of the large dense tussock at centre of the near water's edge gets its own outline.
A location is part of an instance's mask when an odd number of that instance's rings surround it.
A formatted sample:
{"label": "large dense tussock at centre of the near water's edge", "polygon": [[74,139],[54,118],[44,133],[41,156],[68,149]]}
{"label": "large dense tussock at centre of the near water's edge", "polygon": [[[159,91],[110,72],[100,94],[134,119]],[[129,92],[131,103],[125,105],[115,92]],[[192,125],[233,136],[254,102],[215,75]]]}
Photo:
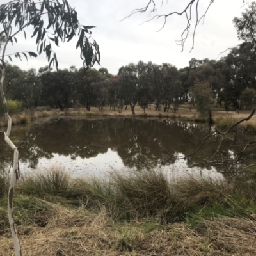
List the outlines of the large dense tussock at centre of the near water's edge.
{"label": "large dense tussock at centre of the near water's edge", "polygon": [[172,184],[161,171],[141,170],[128,175],[113,175],[117,201],[128,218],[158,218],[173,221],[179,218],[179,198]]}

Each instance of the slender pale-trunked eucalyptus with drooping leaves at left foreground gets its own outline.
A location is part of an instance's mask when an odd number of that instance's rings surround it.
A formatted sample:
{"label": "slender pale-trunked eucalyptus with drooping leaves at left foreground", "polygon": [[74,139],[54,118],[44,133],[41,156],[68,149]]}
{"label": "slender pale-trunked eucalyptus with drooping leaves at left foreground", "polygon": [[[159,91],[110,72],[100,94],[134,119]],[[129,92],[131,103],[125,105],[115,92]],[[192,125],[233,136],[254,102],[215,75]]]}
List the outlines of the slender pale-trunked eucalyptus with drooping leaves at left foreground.
{"label": "slender pale-trunked eucalyptus with drooping leaves at left foreground", "polygon": [[[2,1],[3,3],[3,1]],[[45,17],[45,19],[44,19]],[[8,192],[8,217],[12,232],[15,254],[21,255],[19,238],[15,230],[13,218],[13,195],[15,180],[19,179],[20,171],[18,165],[19,149],[10,140],[12,129],[12,118],[8,114],[6,97],[4,94],[4,79],[6,77],[6,58],[12,61],[13,56],[17,59],[28,56],[36,57],[35,52],[13,52],[6,54],[6,49],[10,44],[17,44],[17,35],[24,34],[26,39],[26,29],[33,29],[32,37],[35,37],[38,54],[45,53],[49,65],[56,65],[58,69],[58,59],[54,52],[53,44],[58,46],[59,41],[70,41],[74,36],[79,35],[76,47],[81,50],[81,59],[84,68],[90,68],[95,62],[100,61],[99,45],[92,38],[90,29],[93,26],[83,26],[77,19],[77,12],[70,6],[67,0],[42,0],[34,2],[32,0],[10,1],[0,6],[0,37],[4,36],[4,43],[1,49],[1,80],[0,92],[4,104],[4,115],[8,120],[8,127],[4,132],[6,143],[13,150],[13,163],[10,178],[10,189]]]}

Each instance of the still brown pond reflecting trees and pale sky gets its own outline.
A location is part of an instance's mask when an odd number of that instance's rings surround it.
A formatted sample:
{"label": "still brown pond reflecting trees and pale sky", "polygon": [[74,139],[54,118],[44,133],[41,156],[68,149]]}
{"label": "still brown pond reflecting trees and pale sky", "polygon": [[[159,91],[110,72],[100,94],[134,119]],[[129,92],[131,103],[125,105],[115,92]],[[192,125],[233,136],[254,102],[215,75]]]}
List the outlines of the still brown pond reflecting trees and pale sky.
{"label": "still brown pond reflecting trees and pale sky", "polygon": [[[193,159],[180,159],[200,147],[212,129],[207,124],[164,119],[54,118],[49,122],[14,126],[11,138],[20,148],[20,169],[25,171],[55,164],[65,167],[72,177],[105,176],[113,170],[142,168],[178,173],[232,173],[237,152],[255,138],[255,130],[236,129],[223,141],[219,136],[212,137]],[[1,164],[12,162],[12,152],[3,136],[0,157]]]}

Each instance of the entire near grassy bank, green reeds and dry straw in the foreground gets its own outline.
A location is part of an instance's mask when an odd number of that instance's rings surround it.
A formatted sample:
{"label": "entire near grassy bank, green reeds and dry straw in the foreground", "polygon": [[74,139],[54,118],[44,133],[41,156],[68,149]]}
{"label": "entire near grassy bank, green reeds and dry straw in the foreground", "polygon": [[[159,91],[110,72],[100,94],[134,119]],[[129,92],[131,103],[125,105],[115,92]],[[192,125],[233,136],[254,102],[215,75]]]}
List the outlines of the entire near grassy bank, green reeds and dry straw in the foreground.
{"label": "entire near grassy bank, green reeds and dry straw in the foreground", "polygon": [[[13,255],[6,183],[0,255]],[[22,177],[13,205],[28,255],[256,255],[255,189],[237,180],[156,171],[70,179],[52,168]]]}

